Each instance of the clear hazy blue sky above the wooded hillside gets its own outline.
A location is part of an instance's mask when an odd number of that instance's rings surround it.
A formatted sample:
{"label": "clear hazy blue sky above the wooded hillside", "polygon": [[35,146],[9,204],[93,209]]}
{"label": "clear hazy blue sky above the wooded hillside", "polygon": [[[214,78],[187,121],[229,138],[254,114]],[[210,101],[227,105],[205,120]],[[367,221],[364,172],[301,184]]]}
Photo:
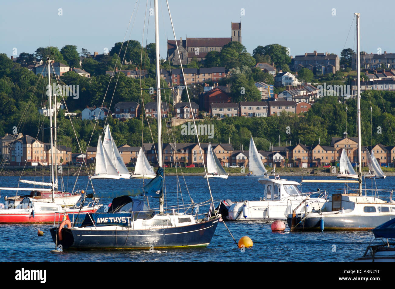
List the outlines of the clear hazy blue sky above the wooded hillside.
{"label": "clear hazy blue sky above the wooded hillside", "polygon": [[[152,2],[152,3],[151,3]],[[136,1],[2,1],[0,8],[0,53],[11,56],[13,48],[34,53],[38,47],[77,45],[103,53],[122,41]],[[166,1],[159,0],[160,49],[166,57],[166,39],[174,39]],[[130,39],[142,41],[146,1],[138,1]],[[149,1],[148,7],[153,7]],[[231,22],[242,22],[242,43],[248,52],[258,45],[279,43],[290,47],[292,56],[305,52],[339,54],[355,50],[354,12],[361,13],[361,50],[395,52],[393,1],[180,1],[169,0],[176,37],[230,37]],[[136,6],[137,7],[137,6]],[[62,16],[58,9],[62,9]],[[241,15],[244,9],[245,15]],[[333,16],[333,9],[336,15]],[[148,42],[154,42],[154,17],[149,18]],[[147,33],[146,33],[147,35]],[[128,39],[129,37],[126,37]],[[347,42],[346,42],[347,40]],[[145,44],[146,37],[143,43]]]}

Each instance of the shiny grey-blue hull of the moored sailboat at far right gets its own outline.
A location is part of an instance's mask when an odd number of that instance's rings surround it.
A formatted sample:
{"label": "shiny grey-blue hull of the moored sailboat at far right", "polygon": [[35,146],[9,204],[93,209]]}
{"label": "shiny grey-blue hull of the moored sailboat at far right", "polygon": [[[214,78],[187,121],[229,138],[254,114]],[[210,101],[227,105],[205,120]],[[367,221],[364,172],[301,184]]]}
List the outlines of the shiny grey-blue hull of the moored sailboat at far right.
{"label": "shiny grey-blue hull of the moored sailboat at far right", "polygon": [[293,231],[321,231],[320,220],[322,218],[324,231],[354,231],[371,230],[394,217],[394,215],[347,216],[339,214],[338,216],[307,217],[301,222],[301,217],[292,218],[292,214],[290,214],[287,223]]}

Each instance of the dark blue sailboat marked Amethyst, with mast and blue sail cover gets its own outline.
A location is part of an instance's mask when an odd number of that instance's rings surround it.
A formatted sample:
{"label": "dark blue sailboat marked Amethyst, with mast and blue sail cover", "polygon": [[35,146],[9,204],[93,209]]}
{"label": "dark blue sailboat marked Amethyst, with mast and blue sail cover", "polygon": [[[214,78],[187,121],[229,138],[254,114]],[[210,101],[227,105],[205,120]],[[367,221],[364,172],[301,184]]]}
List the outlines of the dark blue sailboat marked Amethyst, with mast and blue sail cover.
{"label": "dark blue sailboat marked Amethyst, with mast and blue sail cover", "polygon": [[[118,193],[96,192],[88,195],[89,197],[113,198],[113,201],[107,213],[86,214],[81,217],[81,220],[76,220],[75,224],[79,224],[79,226],[74,226],[73,222],[71,228],[63,228],[63,223],[59,227],[52,228],[51,236],[53,241],[56,246],[62,245],[63,250],[73,248],[149,249],[204,247],[211,242],[221,218],[221,215],[214,210],[211,191],[208,214],[198,214],[199,210],[196,210],[194,215],[184,212],[176,213],[174,207],[164,208],[158,0],[154,1],[154,12],[159,164],[156,176],[144,187],[136,187]],[[209,183],[208,180],[207,183]],[[138,195],[158,198],[159,212],[156,213],[150,209],[142,200],[132,198],[132,196]]]}

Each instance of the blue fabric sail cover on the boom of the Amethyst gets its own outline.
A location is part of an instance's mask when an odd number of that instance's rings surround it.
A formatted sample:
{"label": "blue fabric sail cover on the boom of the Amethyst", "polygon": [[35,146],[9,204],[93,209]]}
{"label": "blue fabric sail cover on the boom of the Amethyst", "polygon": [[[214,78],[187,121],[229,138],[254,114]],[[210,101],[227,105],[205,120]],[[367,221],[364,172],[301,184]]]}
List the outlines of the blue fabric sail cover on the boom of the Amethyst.
{"label": "blue fabric sail cover on the boom of the Amethyst", "polygon": [[156,177],[153,178],[147,185],[137,189],[124,190],[115,193],[95,193],[95,198],[118,198],[120,196],[150,196],[160,198],[163,196],[163,168],[159,167],[156,171]]}

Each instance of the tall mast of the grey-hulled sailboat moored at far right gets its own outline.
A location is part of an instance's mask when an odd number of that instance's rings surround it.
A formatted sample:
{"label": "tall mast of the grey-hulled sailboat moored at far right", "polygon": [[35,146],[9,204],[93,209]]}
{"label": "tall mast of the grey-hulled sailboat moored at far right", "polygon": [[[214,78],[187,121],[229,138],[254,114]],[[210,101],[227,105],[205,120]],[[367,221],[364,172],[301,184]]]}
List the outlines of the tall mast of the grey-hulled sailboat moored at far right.
{"label": "tall mast of the grey-hulled sailboat moored at far right", "polygon": [[357,16],[357,126],[358,126],[358,195],[362,195],[362,152],[361,152],[361,61],[359,54],[359,13]]}

